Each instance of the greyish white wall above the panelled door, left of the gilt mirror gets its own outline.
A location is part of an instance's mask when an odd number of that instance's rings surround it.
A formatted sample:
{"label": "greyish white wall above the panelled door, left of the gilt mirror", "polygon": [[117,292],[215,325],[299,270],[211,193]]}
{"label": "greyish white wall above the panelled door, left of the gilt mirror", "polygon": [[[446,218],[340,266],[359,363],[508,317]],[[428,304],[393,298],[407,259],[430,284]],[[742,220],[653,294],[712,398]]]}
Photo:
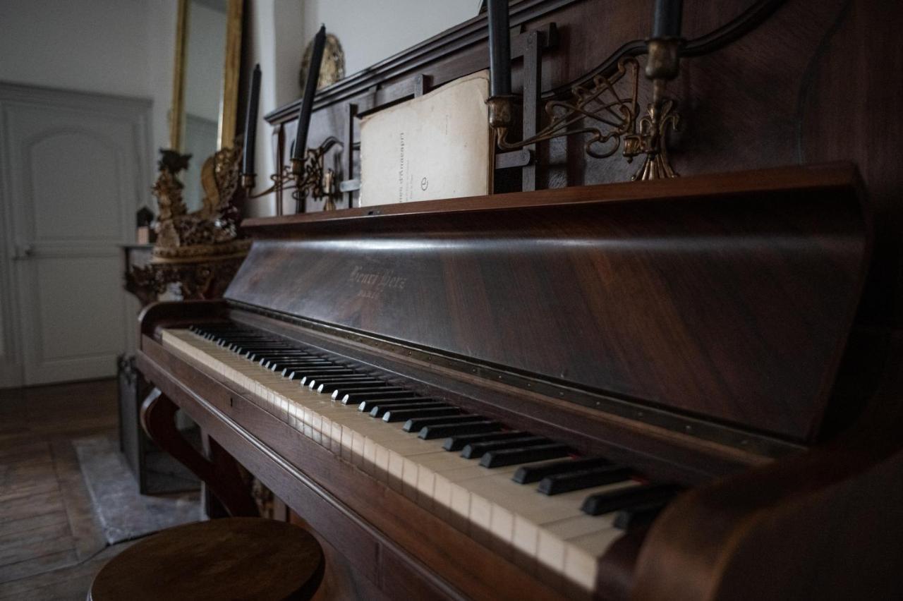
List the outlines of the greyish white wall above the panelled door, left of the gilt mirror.
{"label": "greyish white wall above the panelled door, left of the gilt mirror", "polygon": [[168,146],[176,6],[176,0],[2,0],[0,80],[151,98],[154,149]]}

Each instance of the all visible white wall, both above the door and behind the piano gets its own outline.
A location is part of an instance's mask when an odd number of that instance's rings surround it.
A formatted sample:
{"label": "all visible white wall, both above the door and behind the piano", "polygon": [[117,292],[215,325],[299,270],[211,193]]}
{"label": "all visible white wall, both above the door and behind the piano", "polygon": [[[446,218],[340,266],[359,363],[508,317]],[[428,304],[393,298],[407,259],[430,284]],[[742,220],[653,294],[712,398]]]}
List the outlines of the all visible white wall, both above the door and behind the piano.
{"label": "all visible white wall, both above the door and behind the piano", "polygon": [[[339,37],[350,75],[469,19],[478,5],[477,0],[248,0],[247,42],[263,71],[258,190],[275,169],[263,116],[301,95],[301,57],[320,23]],[[152,98],[154,151],[168,147],[176,7],[177,0],[0,0],[0,80]],[[155,163],[152,167],[153,173]],[[256,213],[272,212],[271,204],[256,203]]]}

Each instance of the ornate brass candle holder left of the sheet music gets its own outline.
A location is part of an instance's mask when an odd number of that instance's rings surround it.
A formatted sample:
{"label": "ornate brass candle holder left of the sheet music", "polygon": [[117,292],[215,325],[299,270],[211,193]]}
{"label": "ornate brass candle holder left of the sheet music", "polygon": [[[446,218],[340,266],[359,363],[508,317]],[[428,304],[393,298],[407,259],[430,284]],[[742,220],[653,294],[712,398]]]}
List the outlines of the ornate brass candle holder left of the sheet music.
{"label": "ornate brass candle holder left of the sheet music", "polygon": [[247,198],[259,199],[275,193],[279,199],[283,191],[292,190],[296,212],[303,212],[304,201],[308,196],[318,200],[326,199],[325,208],[330,208],[330,205],[335,208],[335,171],[325,168],[323,161],[326,153],[336,144],[342,145],[338,138],[330,136],[318,147],[308,148],[303,162],[293,159],[291,165],[283,165],[280,171],[270,175],[273,184],[258,194],[251,192],[254,190],[256,175],[246,173],[242,178],[242,185],[247,191]]}

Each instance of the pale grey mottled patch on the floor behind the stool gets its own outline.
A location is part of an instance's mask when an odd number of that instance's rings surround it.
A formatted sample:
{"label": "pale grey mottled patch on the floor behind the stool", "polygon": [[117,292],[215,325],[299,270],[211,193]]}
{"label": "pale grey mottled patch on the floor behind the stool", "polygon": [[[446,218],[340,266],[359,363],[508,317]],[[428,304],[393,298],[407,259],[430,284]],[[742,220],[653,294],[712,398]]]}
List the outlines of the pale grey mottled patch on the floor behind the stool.
{"label": "pale grey mottled patch on the floor behind the stool", "polygon": [[115,440],[97,436],[73,440],[72,445],[109,544],[200,520],[197,492],[140,495]]}

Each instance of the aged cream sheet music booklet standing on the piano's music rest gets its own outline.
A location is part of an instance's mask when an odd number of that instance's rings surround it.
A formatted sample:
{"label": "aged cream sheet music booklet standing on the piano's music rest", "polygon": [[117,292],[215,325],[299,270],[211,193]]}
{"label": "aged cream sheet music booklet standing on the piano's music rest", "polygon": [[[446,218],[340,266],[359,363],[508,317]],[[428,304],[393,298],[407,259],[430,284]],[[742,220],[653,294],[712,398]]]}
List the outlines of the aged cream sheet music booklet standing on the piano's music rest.
{"label": "aged cream sheet music booklet standing on the piano's music rest", "polygon": [[488,194],[489,71],[364,117],[360,206]]}

